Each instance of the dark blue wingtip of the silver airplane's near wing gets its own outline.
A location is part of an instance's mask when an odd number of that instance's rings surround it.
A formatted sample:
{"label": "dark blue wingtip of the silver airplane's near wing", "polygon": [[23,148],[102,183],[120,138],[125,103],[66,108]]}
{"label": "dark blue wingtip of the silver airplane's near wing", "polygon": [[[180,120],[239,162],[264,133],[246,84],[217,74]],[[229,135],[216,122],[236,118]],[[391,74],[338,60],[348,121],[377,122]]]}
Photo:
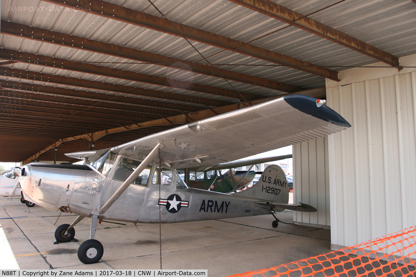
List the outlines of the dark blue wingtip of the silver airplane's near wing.
{"label": "dark blue wingtip of the silver airplane's near wing", "polygon": [[283,99],[285,99],[287,104],[299,111],[304,112],[305,114],[309,114],[338,126],[351,127],[351,124],[349,124],[347,120],[345,120],[333,109],[325,105],[318,107],[316,104],[316,98],[294,94],[283,96]]}

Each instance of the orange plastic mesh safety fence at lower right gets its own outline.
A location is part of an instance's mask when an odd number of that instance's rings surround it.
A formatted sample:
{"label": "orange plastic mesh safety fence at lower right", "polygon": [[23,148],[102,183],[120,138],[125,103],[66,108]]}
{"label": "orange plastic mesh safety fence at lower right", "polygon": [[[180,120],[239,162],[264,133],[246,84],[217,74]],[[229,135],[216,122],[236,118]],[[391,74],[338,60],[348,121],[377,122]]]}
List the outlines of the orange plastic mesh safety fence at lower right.
{"label": "orange plastic mesh safety fence at lower right", "polygon": [[325,255],[230,277],[416,277],[416,226]]}

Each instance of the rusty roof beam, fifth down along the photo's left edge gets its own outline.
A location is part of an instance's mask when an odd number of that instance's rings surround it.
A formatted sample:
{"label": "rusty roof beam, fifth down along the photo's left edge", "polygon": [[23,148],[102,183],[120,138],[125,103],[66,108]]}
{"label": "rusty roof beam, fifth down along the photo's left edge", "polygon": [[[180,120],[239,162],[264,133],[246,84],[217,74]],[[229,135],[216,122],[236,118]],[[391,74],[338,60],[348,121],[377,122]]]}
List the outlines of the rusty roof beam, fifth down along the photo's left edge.
{"label": "rusty roof beam, fifth down along the photo's left edge", "polygon": [[[114,116],[129,116],[131,118],[160,118],[159,114],[176,115],[175,111],[150,109],[138,106],[106,103],[100,101],[90,101],[69,97],[50,96],[45,94],[34,94],[26,92],[13,92],[3,89],[0,91],[0,99],[17,99],[24,101],[28,105],[53,107],[54,109],[64,109],[67,111],[88,111],[94,114],[111,114]],[[5,101],[5,100],[3,100]],[[36,103],[32,103],[36,102]],[[42,104],[41,104],[42,103]],[[156,116],[155,116],[156,115]]]}

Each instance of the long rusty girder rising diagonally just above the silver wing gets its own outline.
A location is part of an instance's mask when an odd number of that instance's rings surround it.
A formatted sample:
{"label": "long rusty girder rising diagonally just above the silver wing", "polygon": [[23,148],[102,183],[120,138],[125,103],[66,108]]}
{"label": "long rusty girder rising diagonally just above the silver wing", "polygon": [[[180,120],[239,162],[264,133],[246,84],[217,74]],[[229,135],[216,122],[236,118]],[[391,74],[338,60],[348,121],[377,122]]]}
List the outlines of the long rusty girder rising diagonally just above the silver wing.
{"label": "long rusty girder rising diagonally just above the silver wing", "polygon": [[[304,94],[304,95],[313,95],[313,96],[319,96],[319,97],[323,97],[326,96],[326,92],[325,92],[325,88],[318,88],[318,89],[311,89],[311,90],[305,90],[303,92],[295,92],[292,94]],[[222,107],[218,107],[218,108],[214,108],[213,110],[215,111],[215,113],[217,114],[223,114],[229,111],[235,111],[236,109],[242,109],[246,106],[250,106],[250,105],[255,105],[255,104],[260,104],[263,103],[265,101],[269,101],[272,99],[276,99],[276,98],[280,98],[283,96],[275,96],[275,97],[270,97],[270,98],[265,98],[265,99],[258,99],[258,100],[254,100],[248,103],[237,103],[237,104],[230,104],[228,106],[222,106]],[[206,119],[208,117],[212,116],[212,111],[210,109],[206,109],[206,110],[202,110],[202,111],[196,111],[194,113],[192,113],[192,119],[193,121],[198,121],[198,120],[202,120],[202,119]],[[150,126],[159,126],[159,125],[168,125],[168,124],[187,124],[187,117],[185,114],[179,114],[176,116],[171,116],[168,117],[167,119],[157,119],[157,120],[151,120],[151,121],[146,121],[146,122],[141,122],[140,126],[137,124],[131,124],[128,126],[123,126],[123,127],[118,127],[118,128],[113,128],[113,129],[107,129],[104,130],[102,132],[105,132],[105,134],[112,134],[112,133],[118,133],[118,132],[122,132],[122,131],[129,131],[129,130],[135,130],[135,129],[140,129],[140,128],[146,128],[146,127],[150,127]],[[126,130],[127,128],[127,130]],[[91,136],[94,136],[94,134],[90,134]],[[70,141],[70,140],[75,140],[75,139],[82,139],[82,136],[73,136],[70,138],[64,138],[62,141]],[[60,142],[62,142],[60,141]],[[45,151],[51,149],[51,147],[47,147]],[[29,161],[31,161],[33,159],[33,157],[35,157],[36,155],[40,155],[43,152],[40,151],[37,154],[27,158],[25,161],[22,161],[23,163],[27,163]]]}

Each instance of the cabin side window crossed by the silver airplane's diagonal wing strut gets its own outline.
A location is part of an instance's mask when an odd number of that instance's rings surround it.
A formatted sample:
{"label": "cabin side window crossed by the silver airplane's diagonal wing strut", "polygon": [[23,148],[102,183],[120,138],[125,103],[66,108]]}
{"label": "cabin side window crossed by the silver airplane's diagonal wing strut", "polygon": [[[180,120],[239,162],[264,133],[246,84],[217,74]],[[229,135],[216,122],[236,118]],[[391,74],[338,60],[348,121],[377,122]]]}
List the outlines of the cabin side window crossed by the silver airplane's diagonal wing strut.
{"label": "cabin side window crossed by the silver airplane's diagonal wing strut", "polygon": [[[117,164],[116,171],[114,172],[113,180],[124,182],[129,178],[131,173],[140,165],[140,161],[132,160],[131,158],[120,158]],[[152,165],[149,164],[139,174],[139,176],[132,182],[134,185],[147,185],[149,181],[149,175],[152,171]]]}

